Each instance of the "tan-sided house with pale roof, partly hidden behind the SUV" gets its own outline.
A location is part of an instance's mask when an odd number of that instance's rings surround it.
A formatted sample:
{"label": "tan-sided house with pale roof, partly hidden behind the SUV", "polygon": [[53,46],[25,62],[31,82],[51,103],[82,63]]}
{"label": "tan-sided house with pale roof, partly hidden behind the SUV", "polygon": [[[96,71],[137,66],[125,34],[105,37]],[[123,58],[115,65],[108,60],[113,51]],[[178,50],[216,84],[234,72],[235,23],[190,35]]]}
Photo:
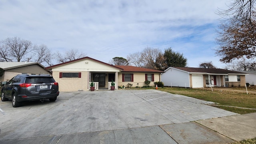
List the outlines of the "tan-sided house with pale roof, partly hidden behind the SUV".
{"label": "tan-sided house with pale roof, partly hidden behind the SUV", "polygon": [[50,74],[51,72],[44,69],[44,66],[38,62],[0,62],[0,68],[4,74],[0,81],[10,80],[17,74]]}

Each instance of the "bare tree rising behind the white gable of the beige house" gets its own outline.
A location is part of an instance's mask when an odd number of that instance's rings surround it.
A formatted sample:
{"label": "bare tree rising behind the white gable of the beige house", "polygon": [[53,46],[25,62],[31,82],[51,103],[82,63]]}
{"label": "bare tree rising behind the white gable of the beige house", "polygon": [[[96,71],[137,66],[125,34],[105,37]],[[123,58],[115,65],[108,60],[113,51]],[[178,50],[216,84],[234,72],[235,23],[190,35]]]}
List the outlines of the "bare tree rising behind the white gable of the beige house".
{"label": "bare tree rising behind the white gable of the beige house", "polygon": [[76,60],[78,58],[83,58],[85,56],[86,54],[78,51],[77,49],[70,49],[64,54],[60,53],[59,51],[56,52],[57,61],[61,63]]}

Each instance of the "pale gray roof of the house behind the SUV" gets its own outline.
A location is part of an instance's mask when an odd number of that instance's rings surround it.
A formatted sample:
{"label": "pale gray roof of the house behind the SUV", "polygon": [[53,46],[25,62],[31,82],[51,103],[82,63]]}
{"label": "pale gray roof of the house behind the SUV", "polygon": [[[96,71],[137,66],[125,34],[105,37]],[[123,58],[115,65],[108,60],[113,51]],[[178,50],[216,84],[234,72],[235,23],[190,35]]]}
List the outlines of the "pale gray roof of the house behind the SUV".
{"label": "pale gray roof of the house behind the SUV", "polygon": [[9,69],[12,69],[12,68],[19,68],[19,67],[22,67],[22,66],[29,66],[29,65],[32,65],[32,64],[38,64],[39,66],[44,68],[44,66],[42,66],[38,62],[0,62],[0,68],[2,68],[4,70],[9,70]]}

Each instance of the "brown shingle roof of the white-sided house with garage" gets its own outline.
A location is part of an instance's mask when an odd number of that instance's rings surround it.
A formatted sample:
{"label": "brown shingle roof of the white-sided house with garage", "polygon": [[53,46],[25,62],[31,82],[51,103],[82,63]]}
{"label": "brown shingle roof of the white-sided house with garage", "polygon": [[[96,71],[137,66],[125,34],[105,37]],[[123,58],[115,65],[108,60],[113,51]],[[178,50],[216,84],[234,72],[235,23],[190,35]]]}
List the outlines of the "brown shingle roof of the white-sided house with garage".
{"label": "brown shingle roof of the white-sided house with garage", "polygon": [[210,73],[210,74],[246,74],[244,72],[225,70],[220,68],[189,68],[189,67],[173,67],[179,70],[184,70],[186,72],[195,73]]}

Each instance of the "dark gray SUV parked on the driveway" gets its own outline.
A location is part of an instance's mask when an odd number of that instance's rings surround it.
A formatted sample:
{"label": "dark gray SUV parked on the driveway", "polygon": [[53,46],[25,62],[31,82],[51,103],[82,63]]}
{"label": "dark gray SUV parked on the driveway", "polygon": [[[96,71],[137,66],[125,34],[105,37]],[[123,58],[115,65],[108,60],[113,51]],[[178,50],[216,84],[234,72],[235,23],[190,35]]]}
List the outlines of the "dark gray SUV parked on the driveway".
{"label": "dark gray SUV parked on the driveway", "polygon": [[1,89],[1,100],[12,100],[13,107],[21,102],[49,99],[54,102],[59,95],[58,82],[46,74],[19,74],[14,76]]}

